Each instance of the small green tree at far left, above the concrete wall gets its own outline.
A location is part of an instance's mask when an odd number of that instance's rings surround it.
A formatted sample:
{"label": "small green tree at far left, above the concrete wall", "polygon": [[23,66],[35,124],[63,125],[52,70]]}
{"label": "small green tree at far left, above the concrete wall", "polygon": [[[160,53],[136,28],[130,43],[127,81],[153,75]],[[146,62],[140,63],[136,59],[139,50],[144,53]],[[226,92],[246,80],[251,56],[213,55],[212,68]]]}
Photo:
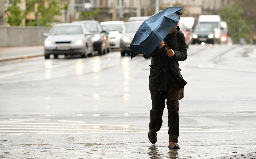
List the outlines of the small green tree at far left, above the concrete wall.
{"label": "small green tree at far left, above the concrete wall", "polygon": [[25,14],[20,10],[18,6],[20,4],[20,0],[17,1],[5,1],[5,5],[8,6],[6,9],[6,23],[11,26],[20,26],[22,25],[22,20],[25,17]]}

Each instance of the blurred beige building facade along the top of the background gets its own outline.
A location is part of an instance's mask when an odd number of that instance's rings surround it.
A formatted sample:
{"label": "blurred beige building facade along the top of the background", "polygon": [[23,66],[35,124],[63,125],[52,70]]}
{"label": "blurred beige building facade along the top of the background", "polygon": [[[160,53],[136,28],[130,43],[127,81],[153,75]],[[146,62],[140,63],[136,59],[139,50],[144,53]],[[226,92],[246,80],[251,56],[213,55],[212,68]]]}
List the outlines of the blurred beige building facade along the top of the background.
{"label": "blurred beige building facade along the top of the background", "polygon": [[[223,5],[230,6],[233,0],[58,0],[61,4],[62,15],[56,16],[61,23],[78,20],[80,11],[92,11],[99,9],[99,14],[93,17],[85,17],[85,20],[127,21],[133,16],[151,16],[167,7],[182,6],[184,17],[195,17],[201,14],[216,14]],[[4,1],[0,1],[4,4]],[[36,5],[36,4],[35,4]],[[67,8],[64,6],[67,5]],[[6,6],[0,5],[0,25],[4,24]],[[35,6],[36,8],[36,6]],[[26,9],[26,1],[21,0],[20,9]],[[35,11],[29,13],[23,20],[23,26],[28,20],[36,20]]]}

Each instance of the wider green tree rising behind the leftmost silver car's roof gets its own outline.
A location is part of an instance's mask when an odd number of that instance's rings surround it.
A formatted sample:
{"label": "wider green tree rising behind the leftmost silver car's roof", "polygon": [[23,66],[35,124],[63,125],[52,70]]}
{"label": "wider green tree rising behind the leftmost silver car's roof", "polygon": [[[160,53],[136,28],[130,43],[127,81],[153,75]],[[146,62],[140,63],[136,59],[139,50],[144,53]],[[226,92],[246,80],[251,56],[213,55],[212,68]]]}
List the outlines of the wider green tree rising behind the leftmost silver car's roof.
{"label": "wider green tree rising behind the leftmost silver car's roof", "polygon": [[[59,22],[59,20],[54,19],[54,16],[61,15],[62,7],[60,7],[59,1],[27,0],[26,6],[26,14],[37,10],[35,12],[36,20],[30,20],[28,26],[37,26],[38,17],[40,26],[51,26],[52,23]],[[38,7],[35,8],[36,6]]]}

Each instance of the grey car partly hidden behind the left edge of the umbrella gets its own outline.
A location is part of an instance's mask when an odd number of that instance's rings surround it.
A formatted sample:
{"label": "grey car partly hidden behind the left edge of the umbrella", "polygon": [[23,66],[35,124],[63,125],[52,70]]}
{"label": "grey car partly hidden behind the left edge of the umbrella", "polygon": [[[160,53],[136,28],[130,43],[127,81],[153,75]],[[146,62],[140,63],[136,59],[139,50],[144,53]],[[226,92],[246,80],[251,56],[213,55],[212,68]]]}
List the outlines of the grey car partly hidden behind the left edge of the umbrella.
{"label": "grey car partly hidden behind the left edge of the umbrella", "polygon": [[137,32],[139,26],[143,23],[143,21],[130,22],[120,40],[120,51],[121,56],[131,55],[131,43],[133,41],[133,37]]}

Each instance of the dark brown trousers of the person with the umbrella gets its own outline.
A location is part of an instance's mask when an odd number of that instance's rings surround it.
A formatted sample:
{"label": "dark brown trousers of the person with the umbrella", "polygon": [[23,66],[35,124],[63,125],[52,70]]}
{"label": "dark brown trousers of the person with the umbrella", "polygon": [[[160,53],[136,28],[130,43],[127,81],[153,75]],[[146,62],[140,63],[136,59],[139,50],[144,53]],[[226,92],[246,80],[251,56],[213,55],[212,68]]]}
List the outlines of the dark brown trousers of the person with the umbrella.
{"label": "dark brown trousers of the person with the umbrella", "polygon": [[168,110],[168,134],[169,142],[178,143],[179,136],[179,88],[174,77],[168,79],[167,91],[150,91],[152,100],[152,109],[150,110],[149,128],[157,132],[163,123],[163,109],[165,99]]}

